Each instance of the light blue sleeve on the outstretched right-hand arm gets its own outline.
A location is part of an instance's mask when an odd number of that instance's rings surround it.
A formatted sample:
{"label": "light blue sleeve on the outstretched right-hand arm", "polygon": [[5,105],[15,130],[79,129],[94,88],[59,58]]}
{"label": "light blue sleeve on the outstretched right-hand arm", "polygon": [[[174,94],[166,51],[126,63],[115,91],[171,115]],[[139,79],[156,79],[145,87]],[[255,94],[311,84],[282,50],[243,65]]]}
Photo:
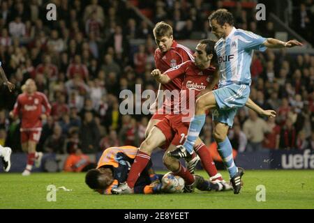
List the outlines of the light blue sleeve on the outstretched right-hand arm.
{"label": "light blue sleeve on the outstretched right-hand arm", "polygon": [[241,48],[243,49],[257,49],[259,51],[265,51],[267,47],[264,46],[266,38],[259,36],[250,31],[239,31],[239,38],[241,40]]}

